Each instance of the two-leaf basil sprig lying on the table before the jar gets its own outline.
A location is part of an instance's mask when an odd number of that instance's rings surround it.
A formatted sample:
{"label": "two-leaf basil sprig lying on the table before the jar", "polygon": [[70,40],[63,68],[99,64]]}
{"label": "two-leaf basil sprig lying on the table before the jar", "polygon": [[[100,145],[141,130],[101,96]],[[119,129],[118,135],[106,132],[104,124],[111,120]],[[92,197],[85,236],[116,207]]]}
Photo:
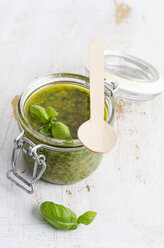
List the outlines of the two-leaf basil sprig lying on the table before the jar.
{"label": "two-leaf basil sprig lying on the table before the jar", "polygon": [[42,216],[58,230],[73,230],[80,223],[89,225],[97,215],[96,212],[88,211],[77,218],[71,209],[49,201],[41,204],[40,211]]}

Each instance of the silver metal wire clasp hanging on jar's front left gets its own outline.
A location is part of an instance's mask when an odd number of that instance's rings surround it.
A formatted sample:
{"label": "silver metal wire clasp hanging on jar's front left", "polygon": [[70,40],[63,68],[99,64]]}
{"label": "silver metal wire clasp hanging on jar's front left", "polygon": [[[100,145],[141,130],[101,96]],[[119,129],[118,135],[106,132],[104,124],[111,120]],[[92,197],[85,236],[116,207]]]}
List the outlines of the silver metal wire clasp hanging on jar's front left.
{"label": "silver metal wire clasp hanging on jar's front left", "polygon": [[[19,188],[25,190],[27,193],[32,194],[34,192],[34,183],[38,181],[46,170],[45,156],[38,155],[36,145],[29,139],[23,137],[24,131],[14,140],[14,148],[11,157],[12,169],[8,170],[7,178],[10,179]],[[29,145],[29,150],[25,149],[24,144]],[[33,175],[30,181],[27,181],[20,174],[18,174],[18,161],[20,153],[28,153],[34,159]],[[41,166],[41,170],[37,175],[38,165]],[[13,177],[15,176],[15,178]],[[17,180],[18,179],[18,180]]]}

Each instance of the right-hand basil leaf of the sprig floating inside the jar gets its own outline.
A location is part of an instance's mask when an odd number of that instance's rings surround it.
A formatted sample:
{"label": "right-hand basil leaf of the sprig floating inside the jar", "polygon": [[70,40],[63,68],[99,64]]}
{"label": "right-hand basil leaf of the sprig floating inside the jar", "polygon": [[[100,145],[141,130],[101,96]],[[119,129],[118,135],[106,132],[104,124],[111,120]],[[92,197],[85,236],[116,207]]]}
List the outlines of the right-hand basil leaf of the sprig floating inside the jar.
{"label": "right-hand basil leaf of the sprig floating inside the jar", "polygon": [[72,136],[69,127],[62,122],[56,121],[51,126],[51,133],[55,139],[71,140]]}

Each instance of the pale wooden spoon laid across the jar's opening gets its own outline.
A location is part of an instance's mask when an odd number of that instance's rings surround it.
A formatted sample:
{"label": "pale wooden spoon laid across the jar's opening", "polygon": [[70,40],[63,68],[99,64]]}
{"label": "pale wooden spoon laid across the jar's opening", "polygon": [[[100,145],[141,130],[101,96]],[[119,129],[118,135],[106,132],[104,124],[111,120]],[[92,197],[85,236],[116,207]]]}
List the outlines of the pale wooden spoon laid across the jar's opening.
{"label": "pale wooden spoon laid across the jar's opening", "polygon": [[104,48],[99,41],[89,44],[90,120],[78,129],[78,138],[89,150],[109,152],[117,142],[113,127],[104,121]]}

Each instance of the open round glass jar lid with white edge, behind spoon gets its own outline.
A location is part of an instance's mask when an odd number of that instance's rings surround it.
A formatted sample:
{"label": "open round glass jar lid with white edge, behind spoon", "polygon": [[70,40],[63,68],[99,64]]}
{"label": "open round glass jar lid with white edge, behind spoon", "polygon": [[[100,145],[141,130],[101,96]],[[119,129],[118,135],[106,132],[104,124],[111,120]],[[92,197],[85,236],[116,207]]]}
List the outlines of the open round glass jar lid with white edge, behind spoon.
{"label": "open round glass jar lid with white edge, behind spoon", "polygon": [[158,71],[137,57],[105,50],[104,67],[106,83],[118,83],[116,97],[151,100],[164,90],[164,82]]}

